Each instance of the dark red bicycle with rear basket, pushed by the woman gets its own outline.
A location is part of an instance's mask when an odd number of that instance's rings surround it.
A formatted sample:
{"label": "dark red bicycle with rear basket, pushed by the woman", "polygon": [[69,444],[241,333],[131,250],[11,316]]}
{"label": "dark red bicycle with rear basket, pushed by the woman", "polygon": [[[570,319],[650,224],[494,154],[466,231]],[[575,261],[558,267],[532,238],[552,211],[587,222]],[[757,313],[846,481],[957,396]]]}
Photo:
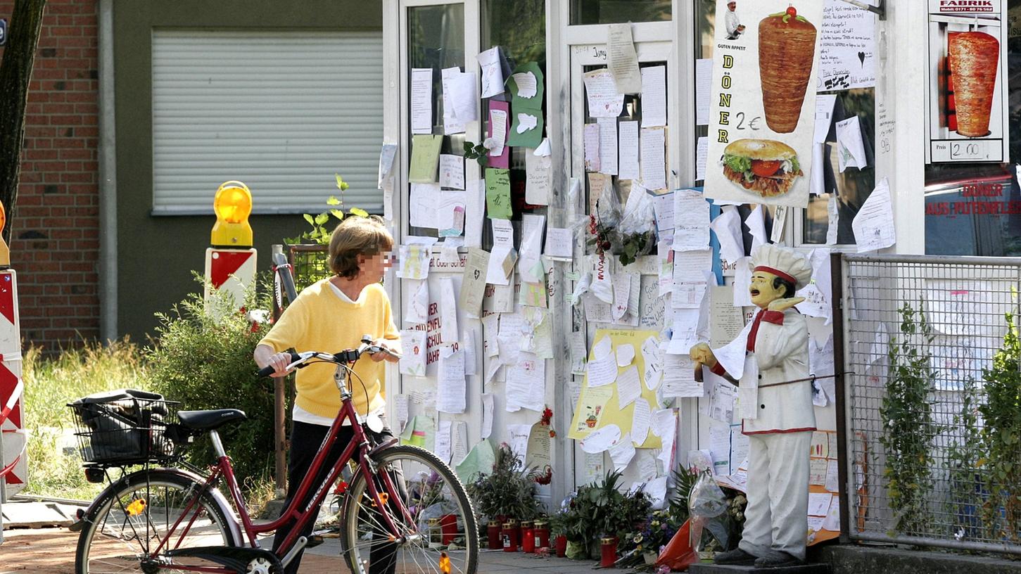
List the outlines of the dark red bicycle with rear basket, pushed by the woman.
{"label": "dark red bicycle with rear basket, pushed by the woman", "polygon": [[[456,475],[423,448],[398,445],[393,437],[377,443],[375,431],[351,402],[351,366],[362,353],[381,351],[389,352],[373,346],[367,335],[356,349],[291,353],[289,371],[318,363],[337,366],[334,381],[341,408],[295,496],[274,521],[252,521],[216,431],[243,420],[245,414],[241,411],[182,411],[177,413],[179,422],[167,423],[172,401],[136,409],[148,414],[131,428],[116,427],[119,430],[115,432],[138,432],[147,445],[142,461],[138,457],[97,459],[93,446],[100,431],[93,426],[80,432],[87,475],[91,473],[90,480],[105,477],[110,484],[87,510],[80,511],[79,520],[71,526],[81,531],[76,572],[282,572],[308,544],[309,540],[299,532],[307,521],[314,520],[311,509],[319,507],[330,493],[330,486],[353,461],[356,467],[350,483],[341,481],[334,490],[344,495],[341,554],[352,572],[369,572],[375,551],[383,567],[389,563],[396,572],[475,574],[479,555],[475,514]],[[259,376],[272,372],[269,367],[259,371]],[[137,404],[140,399],[132,400]],[[160,414],[153,415],[153,411]],[[330,468],[327,478],[311,484],[344,421],[351,422],[354,438]],[[167,449],[160,447],[166,442],[179,445],[203,432],[209,434],[216,456],[207,472],[185,462],[180,449],[166,453]],[[141,470],[129,473],[125,468],[140,462]],[[123,476],[113,480],[111,468],[120,468]],[[222,480],[230,503],[217,488]],[[313,488],[310,500],[298,508],[298,500]],[[295,518],[297,524],[277,552],[259,545],[259,535],[275,531],[290,518]]]}

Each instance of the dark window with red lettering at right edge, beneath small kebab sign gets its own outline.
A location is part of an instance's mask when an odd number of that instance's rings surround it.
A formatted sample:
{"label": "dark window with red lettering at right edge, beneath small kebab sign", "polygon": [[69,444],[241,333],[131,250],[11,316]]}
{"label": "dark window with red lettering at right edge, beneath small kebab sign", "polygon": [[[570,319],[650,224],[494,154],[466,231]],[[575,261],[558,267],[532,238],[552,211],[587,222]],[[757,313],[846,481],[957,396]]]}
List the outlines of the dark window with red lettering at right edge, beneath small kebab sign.
{"label": "dark window with red lettering at right edge, beneath small kebab sign", "polygon": [[1010,162],[925,168],[925,252],[1021,255],[1021,1],[1012,0],[1007,42]]}

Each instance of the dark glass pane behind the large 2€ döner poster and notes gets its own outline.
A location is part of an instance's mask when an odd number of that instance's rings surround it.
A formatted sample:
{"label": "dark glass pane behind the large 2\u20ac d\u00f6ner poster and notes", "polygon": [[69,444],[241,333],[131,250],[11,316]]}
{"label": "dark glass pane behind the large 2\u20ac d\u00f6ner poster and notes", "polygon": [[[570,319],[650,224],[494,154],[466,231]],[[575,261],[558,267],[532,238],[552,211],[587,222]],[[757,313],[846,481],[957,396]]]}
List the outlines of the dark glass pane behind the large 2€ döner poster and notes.
{"label": "dark glass pane behind the large 2\u20ac d\u00f6ner poster and notes", "polygon": [[[695,58],[712,60],[714,34],[716,32],[716,2],[710,0],[697,0],[695,2]],[[814,169],[823,171],[823,193],[811,195],[809,205],[805,209],[797,209],[790,213],[788,219],[798,217],[800,225],[793,226],[795,232],[799,230],[797,237],[790,243],[794,245],[815,245],[826,243],[826,233],[829,229],[828,203],[830,197],[835,194],[837,209],[839,213],[839,225],[837,226],[836,243],[838,245],[854,245],[855,236],[850,229],[850,223],[858,214],[859,208],[866,198],[872,193],[875,187],[875,90],[873,88],[844,90],[838,92],[819,92],[820,94],[836,94],[836,102],[833,107],[832,124],[825,144],[822,145],[823,162]],[[696,102],[697,104],[697,102]],[[869,166],[863,170],[847,168],[840,173],[836,151],[836,134],[833,126],[836,122],[858,115],[862,127],[862,139],[865,143],[865,151],[868,157]],[[709,135],[708,126],[695,127],[695,143],[700,138]],[[719,158],[707,157],[707,162],[712,164]],[[709,166],[707,165],[707,169]],[[704,182],[696,180],[695,185],[701,186]],[[739,207],[741,217],[744,218],[750,211],[752,205],[742,205]],[[770,206],[769,217],[766,221],[766,231],[771,233],[772,220],[775,207]],[[799,212],[799,216],[797,214]],[[750,236],[745,230],[745,244],[750,245]]]}

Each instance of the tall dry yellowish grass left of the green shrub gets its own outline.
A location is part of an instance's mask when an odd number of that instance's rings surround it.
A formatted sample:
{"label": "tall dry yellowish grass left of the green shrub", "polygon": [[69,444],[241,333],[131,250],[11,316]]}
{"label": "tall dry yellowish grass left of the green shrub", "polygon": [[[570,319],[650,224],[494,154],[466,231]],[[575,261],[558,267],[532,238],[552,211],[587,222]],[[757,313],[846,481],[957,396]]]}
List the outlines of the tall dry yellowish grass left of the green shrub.
{"label": "tall dry yellowish grass left of the green shrub", "polygon": [[[77,441],[71,443],[66,438],[74,432],[66,404],[96,392],[145,388],[148,377],[141,350],[128,341],[105,346],[85,342],[79,348],[47,357],[38,347],[31,347],[25,354],[22,379],[25,427],[30,429],[29,484],[22,493],[78,499],[95,497],[103,485],[85,480]],[[76,448],[70,452],[60,447],[71,444]]]}

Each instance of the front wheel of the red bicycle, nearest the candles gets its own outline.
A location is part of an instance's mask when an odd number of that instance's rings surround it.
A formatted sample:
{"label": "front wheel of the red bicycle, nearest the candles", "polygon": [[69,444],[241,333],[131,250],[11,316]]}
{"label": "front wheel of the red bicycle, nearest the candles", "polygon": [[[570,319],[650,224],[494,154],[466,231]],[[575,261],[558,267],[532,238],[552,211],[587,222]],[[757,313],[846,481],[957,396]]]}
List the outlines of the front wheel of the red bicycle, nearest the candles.
{"label": "front wheel of the red bicycle, nearest the candles", "polygon": [[[356,574],[475,574],[479,535],[472,504],[460,481],[440,459],[417,446],[392,446],[376,456],[380,492],[390,490],[383,510],[369,493],[364,475],[348,487],[344,553]],[[386,473],[390,478],[384,481]],[[385,484],[393,484],[391,490]],[[403,509],[393,497],[403,503]],[[383,518],[398,529],[394,541]],[[401,541],[402,540],[402,541]]]}

